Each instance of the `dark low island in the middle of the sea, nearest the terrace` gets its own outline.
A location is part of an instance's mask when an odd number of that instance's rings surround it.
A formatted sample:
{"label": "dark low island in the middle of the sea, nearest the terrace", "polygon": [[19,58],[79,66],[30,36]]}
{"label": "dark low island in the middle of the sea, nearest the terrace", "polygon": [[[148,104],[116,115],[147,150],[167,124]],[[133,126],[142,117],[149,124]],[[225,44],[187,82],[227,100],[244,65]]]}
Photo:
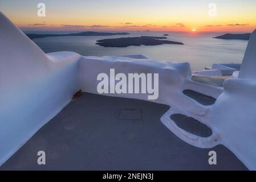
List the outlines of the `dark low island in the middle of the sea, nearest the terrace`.
{"label": "dark low island in the middle of the sea, nearest the terrace", "polygon": [[[162,38],[162,37],[160,37]],[[134,38],[116,38],[116,39],[103,39],[97,40],[99,46],[103,47],[128,47],[128,46],[157,46],[162,44],[179,44],[183,45],[181,42],[173,42],[169,40],[159,40],[154,36],[141,36]]]}

